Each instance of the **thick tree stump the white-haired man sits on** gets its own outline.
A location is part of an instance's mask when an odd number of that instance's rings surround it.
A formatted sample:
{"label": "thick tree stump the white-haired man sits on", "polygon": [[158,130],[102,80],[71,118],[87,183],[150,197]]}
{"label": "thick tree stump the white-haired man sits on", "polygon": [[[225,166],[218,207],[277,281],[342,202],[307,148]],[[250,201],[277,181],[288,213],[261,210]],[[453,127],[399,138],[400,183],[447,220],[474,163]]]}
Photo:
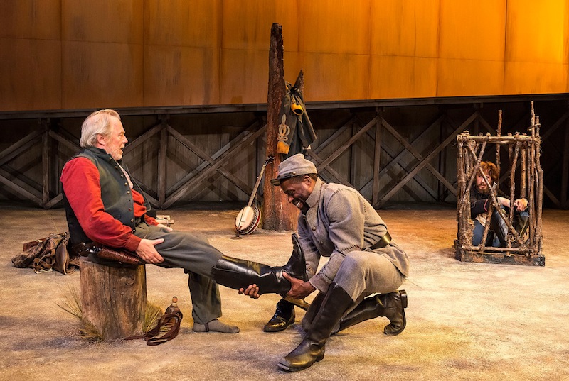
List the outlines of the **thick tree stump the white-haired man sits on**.
{"label": "thick tree stump the white-haired man sits on", "polygon": [[83,257],[80,268],[83,321],[105,341],[142,333],[147,307],[144,265],[110,267]]}

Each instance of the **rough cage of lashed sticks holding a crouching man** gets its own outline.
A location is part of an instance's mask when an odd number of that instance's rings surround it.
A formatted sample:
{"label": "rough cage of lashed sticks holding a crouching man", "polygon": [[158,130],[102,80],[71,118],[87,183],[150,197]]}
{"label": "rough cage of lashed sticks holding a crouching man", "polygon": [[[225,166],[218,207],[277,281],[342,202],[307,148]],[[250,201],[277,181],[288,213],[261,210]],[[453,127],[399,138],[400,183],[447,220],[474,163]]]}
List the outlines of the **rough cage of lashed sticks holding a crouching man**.
{"label": "rough cage of lashed sticks holding a crouching man", "polygon": [[[463,262],[479,263],[510,263],[516,265],[545,265],[545,257],[542,255],[543,236],[541,230],[541,211],[543,204],[543,170],[540,165],[541,138],[539,136],[539,116],[533,111],[531,102],[531,126],[526,133],[511,133],[501,136],[502,115],[499,111],[498,128],[496,136],[470,136],[468,131],[457,136],[457,221],[458,234],[454,243],[456,256]],[[528,200],[527,211],[529,219],[527,228],[516,231],[514,228],[514,208],[505,212],[497,200],[497,187],[499,180],[491,186],[489,179],[480,169],[480,162],[486,156],[491,155],[489,146],[495,145],[496,166],[499,172],[505,162],[509,164],[501,180],[509,181],[510,200],[526,198]],[[507,150],[508,160],[500,160],[501,148]],[[501,168],[502,167],[502,168]],[[489,187],[488,214],[492,211],[499,212],[506,223],[506,247],[496,248],[486,246],[486,238],[489,234],[490,218],[486,219],[482,241],[479,245],[472,244],[472,231],[474,223],[470,216],[470,189],[475,186],[474,180],[477,173],[481,173],[484,182]]]}

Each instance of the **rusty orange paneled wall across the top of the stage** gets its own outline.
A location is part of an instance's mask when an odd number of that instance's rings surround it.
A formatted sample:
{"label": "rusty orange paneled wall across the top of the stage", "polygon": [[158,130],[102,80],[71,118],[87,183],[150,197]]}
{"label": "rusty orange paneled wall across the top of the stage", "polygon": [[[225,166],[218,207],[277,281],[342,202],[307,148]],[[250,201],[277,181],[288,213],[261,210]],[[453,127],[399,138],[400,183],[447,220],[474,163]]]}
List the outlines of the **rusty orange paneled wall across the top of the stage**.
{"label": "rusty orange paneled wall across the top of the stage", "polygon": [[569,0],[0,0],[0,111],[569,92]]}

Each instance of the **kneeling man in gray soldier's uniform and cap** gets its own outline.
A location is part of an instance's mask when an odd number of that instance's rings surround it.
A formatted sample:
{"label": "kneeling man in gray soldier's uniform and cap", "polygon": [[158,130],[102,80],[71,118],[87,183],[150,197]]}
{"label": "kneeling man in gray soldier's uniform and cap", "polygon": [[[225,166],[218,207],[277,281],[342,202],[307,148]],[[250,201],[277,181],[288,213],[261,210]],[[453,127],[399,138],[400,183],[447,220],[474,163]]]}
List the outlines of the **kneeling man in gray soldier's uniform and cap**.
{"label": "kneeling man in gray soldier's uniform and cap", "polygon": [[[293,372],[309,368],[324,358],[331,334],[378,316],[390,320],[385,334],[401,333],[407,294],[397,289],[408,276],[409,261],[373,206],[355,189],[322,182],[314,164],[300,153],[281,162],[271,182],[302,212],[298,234],[309,279],[285,274],[292,284],[287,296],[303,299],[319,291],[302,320],[306,336],[279,367]],[[321,256],[330,259],[317,272]],[[254,285],[244,293],[259,297]]]}

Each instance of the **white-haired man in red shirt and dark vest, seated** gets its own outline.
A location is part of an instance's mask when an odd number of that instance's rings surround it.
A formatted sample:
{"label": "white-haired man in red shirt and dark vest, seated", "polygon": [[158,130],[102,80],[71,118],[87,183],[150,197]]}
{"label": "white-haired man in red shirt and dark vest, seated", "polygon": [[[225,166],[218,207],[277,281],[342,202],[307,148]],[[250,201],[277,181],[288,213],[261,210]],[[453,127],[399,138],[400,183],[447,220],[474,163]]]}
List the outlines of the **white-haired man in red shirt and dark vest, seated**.
{"label": "white-haired man in red shirt and dark vest, seated", "polygon": [[65,164],[60,177],[70,248],[102,244],[135,253],[146,263],[183,268],[189,275],[196,332],[239,331],[236,326],[218,321],[221,316],[218,283],[235,289],[255,283],[260,292],[286,294],[291,284],[283,272],[305,277],[300,250],[293,250],[287,265],[270,267],[227,257],[202,236],[173,231],[156,223],[147,214],[150,205],[142,190],[122,162],[127,142],[117,111],[95,111],[83,122],[80,138],[83,151]]}

